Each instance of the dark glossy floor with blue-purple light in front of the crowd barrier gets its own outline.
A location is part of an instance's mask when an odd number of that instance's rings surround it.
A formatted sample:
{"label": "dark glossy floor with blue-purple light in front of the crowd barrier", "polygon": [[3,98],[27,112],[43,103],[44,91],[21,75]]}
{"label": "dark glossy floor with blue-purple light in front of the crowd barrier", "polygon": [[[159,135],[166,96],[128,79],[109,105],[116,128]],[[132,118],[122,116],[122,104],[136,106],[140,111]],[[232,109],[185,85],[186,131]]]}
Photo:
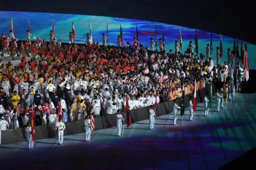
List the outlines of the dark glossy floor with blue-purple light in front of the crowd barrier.
{"label": "dark glossy floor with blue-purple light in front of the crowd barrier", "polygon": [[80,133],[64,136],[63,145],[57,144],[57,137],[35,140],[34,150],[27,149],[27,142],[0,145],[0,165],[48,170],[219,169],[256,147],[255,101],[255,93],[239,93],[216,112],[214,96],[210,117],[204,116],[199,103],[195,121],[188,121],[186,108],[183,120],[178,116],[178,126],[170,113],[156,117],[155,130],[149,129],[148,119],[125,125],[123,137],[113,127],[93,131],[91,142]]}

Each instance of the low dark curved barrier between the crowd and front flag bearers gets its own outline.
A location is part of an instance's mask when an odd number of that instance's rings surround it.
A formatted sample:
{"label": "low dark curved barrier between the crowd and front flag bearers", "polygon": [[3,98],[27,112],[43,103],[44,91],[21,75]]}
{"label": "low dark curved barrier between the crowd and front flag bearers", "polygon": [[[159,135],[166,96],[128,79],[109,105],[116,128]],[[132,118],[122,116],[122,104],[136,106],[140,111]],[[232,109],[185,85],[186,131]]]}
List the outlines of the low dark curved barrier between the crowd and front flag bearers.
{"label": "low dark curved barrier between the crowd and front flag bearers", "polygon": [[[216,93],[215,87],[220,87],[221,82],[215,82],[212,86],[212,94]],[[209,93],[209,85],[205,88],[197,91],[197,103],[201,103],[204,100],[205,91]],[[188,107],[189,96],[194,96],[194,94],[186,95],[184,97],[184,107]],[[181,98],[177,98],[177,103],[180,106]],[[164,114],[169,114],[173,112],[173,101],[168,101],[161,103],[157,106],[157,116],[161,116]],[[138,122],[140,120],[148,119],[149,107],[143,107],[135,110],[131,110],[131,118],[132,123]],[[122,113],[124,115],[124,113]],[[125,119],[126,123],[126,119]],[[94,118],[95,129],[101,130],[106,128],[111,128],[116,126],[116,114],[105,115],[101,117]],[[84,133],[84,120],[77,120],[74,122],[65,123],[66,129],[64,130],[64,135],[73,135],[77,133]],[[55,124],[52,125],[43,125],[43,126],[35,126],[35,140],[37,139],[45,139],[57,137],[58,133],[55,130]],[[2,131],[2,144],[15,143],[15,142],[23,142],[26,141],[25,136],[25,128],[20,128],[17,130],[7,130]]]}

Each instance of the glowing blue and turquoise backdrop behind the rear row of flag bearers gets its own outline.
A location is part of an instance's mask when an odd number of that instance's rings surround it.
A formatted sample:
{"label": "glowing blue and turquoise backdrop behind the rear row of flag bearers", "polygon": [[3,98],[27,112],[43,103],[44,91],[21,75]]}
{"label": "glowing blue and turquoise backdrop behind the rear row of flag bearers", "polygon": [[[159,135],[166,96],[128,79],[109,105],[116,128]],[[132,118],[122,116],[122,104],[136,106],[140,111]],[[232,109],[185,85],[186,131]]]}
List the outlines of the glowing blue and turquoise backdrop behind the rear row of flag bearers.
{"label": "glowing blue and turquoise backdrop behind the rear row of flag bearers", "polygon": [[[37,12],[13,12],[0,11],[1,25],[0,32],[9,34],[11,26],[11,18],[13,20],[14,35],[19,40],[26,39],[26,30],[28,30],[28,20],[30,20],[31,34],[40,39],[49,41],[49,33],[52,30],[52,20],[54,19],[55,36],[57,40],[62,42],[69,41],[69,32],[72,31],[72,21],[74,22],[76,43],[84,43],[86,41],[86,34],[90,32],[90,21],[92,23],[93,39],[99,44],[101,42],[102,33],[106,35],[106,25],[108,22],[109,28],[109,44],[117,45],[116,39],[120,34],[120,25],[122,26],[123,39],[125,42],[132,42],[133,37],[136,36],[136,25],[139,32],[139,41],[144,46],[150,46],[150,38],[153,37],[155,41],[155,27],[157,26],[157,40],[162,37],[162,29],[164,30],[165,50],[169,52],[170,49],[174,51],[174,42],[179,42],[179,31],[181,28],[183,39],[183,51],[188,47],[189,41],[195,44],[195,28],[186,28],[175,25],[168,25],[166,23],[125,19],[116,17],[92,16],[92,15],[74,15],[74,14],[56,14],[56,13],[37,13]],[[199,54],[205,55],[206,44],[210,43],[210,32],[197,30]],[[238,37],[239,38],[239,37]],[[211,57],[216,64],[216,47],[220,45],[220,34],[212,33],[212,43],[214,52]],[[245,41],[243,41],[244,46]],[[226,61],[227,48],[233,50],[233,37],[226,37],[222,35],[223,44],[223,58],[221,63]],[[239,54],[241,39],[239,38]],[[249,69],[256,68],[256,45],[247,43]]]}

